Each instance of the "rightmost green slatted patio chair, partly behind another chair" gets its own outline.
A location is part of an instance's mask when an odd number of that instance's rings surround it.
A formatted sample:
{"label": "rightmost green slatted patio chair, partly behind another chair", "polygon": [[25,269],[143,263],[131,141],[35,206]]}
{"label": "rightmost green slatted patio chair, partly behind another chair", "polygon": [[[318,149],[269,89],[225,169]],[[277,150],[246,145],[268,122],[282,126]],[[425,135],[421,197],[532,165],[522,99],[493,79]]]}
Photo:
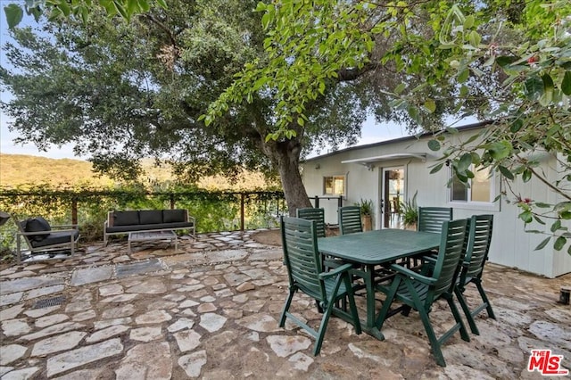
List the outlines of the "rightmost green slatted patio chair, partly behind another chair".
{"label": "rightmost green slatted patio chair, partly behind another chair", "polygon": [[[460,306],[466,314],[468,325],[472,333],[480,335],[474,318],[482,310],[486,310],[488,317],[495,319],[492,304],[488,300],[482,286],[482,273],[484,272],[485,261],[488,259],[490,251],[490,242],[492,241],[492,225],[493,215],[474,215],[468,219],[468,238],[466,246],[466,254],[461,261],[461,271],[458,278],[458,285],[454,289],[454,293],[458,297]],[[476,285],[478,293],[482,298],[482,303],[475,309],[470,310],[468,302],[464,297],[464,291],[468,284]]]}

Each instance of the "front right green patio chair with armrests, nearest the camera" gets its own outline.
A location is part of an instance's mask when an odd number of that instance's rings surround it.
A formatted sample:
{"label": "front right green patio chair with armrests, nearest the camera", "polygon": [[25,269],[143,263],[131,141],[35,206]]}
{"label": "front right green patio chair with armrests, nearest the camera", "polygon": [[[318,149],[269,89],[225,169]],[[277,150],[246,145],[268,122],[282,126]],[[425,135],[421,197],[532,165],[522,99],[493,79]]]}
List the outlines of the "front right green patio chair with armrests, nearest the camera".
{"label": "front right green patio chair with armrests, nearest the camera", "polygon": [[[396,272],[396,276],[391,285],[389,287],[377,286],[379,290],[386,293],[383,308],[377,318],[379,330],[385,324],[386,318],[393,315],[391,304],[394,301],[403,303],[404,310],[402,314],[405,316],[408,315],[411,309],[418,310],[436,363],[443,367],[446,366],[446,362],[441,350],[442,344],[458,330],[460,330],[463,340],[467,342],[470,340],[468,331],[462,322],[462,318],[460,318],[459,310],[453,301],[456,277],[459,272],[459,260],[466,236],[466,224],[466,219],[445,221],[443,223],[440,249],[437,258],[434,260],[434,270],[430,277],[393,264],[391,269]],[[451,326],[440,338],[437,338],[430,322],[429,313],[433,303],[439,299],[444,299],[448,302],[456,324]]]}

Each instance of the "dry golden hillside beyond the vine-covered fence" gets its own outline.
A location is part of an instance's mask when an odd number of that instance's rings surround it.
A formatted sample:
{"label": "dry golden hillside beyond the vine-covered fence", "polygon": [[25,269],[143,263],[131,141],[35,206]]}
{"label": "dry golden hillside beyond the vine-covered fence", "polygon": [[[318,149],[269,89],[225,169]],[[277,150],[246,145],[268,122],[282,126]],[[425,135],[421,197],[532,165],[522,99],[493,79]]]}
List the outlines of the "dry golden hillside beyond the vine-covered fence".
{"label": "dry golden hillside beyond the vine-covered fence", "polygon": [[[172,179],[168,167],[156,168],[153,161],[144,161],[145,178],[164,181]],[[14,187],[49,184],[54,187],[110,186],[114,182],[106,176],[97,177],[91,162],[72,159],[50,159],[23,154],[0,153],[0,186]],[[253,190],[270,186],[261,173],[245,172],[236,183],[219,176],[203,178],[198,186],[209,190]],[[274,185],[275,186],[275,185]]]}

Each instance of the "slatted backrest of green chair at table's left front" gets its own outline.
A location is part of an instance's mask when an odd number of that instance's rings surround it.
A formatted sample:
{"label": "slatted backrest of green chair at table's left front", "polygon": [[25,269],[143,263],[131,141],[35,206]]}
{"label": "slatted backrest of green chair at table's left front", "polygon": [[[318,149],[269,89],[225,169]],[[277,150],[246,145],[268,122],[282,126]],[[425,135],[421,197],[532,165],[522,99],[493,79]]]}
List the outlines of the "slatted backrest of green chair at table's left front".
{"label": "slatted backrest of green chair at table's left front", "polygon": [[290,285],[316,300],[326,300],[315,220],[282,217],[282,245]]}

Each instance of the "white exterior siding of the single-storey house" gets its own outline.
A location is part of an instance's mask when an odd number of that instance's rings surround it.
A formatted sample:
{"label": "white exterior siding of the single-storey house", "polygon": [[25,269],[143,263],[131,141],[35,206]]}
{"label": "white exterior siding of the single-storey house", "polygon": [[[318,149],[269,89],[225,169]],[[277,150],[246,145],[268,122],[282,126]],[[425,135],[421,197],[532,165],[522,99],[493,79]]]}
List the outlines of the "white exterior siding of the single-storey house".
{"label": "white exterior siding of the single-storey house", "polygon": [[[470,134],[476,133],[469,129],[461,132],[459,138],[466,139]],[[517,219],[520,210],[513,203],[506,200],[495,202],[492,205],[467,205],[457,202],[450,202],[449,189],[446,184],[449,178],[449,171],[446,167],[438,173],[430,174],[430,167],[437,162],[437,154],[430,151],[426,145],[429,137],[421,139],[401,138],[391,142],[379,143],[376,145],[365,145],[328,153],[324,156],[308,160],[303,165],[303,182],[310,197],[315,195],[323,196],[323,177],[345,175],[346,194],[343,205],[351,205],[360,202],[360,199],[371,199],[377,211],[374,217],[374,228],[381,224],[380,219],[380,199],[381,199],[381,177],[383,168],[404,166],[405,168],[405,197],[411,198],[418,190],[417,202],[419,206],[452,207],[454,209],[454,219],[468,218],[475,214],[491,213],[494,216],[492,246],[490,250],[490,261],[507,267],[520,268],[545,277],[558,277],[571,272],[571,256],[564,251],[555,252],[552,244],[541,251],[534,251],[534,248],[542,242],[546,235],[525,233],[524,223]],[[355,159],[377,157],[396,153],[426,153],[426,161],[417,158],[406,158],[392,161],[378,161],[374,163],[374,168],[368,169],[360,163],[341,163]],[[557,161],[553,158],[546,158],[542,169],[548,172],[548,176],[555,181],[555,171]],[[318,169],[319,168],[319,169]],[[496,180],[496,194],[500,194],[500,181]],[[547,186],[537,179],[532,179],[528,183],[517,181],[512,185],[516,194],[521,194],[524,198],[541,200],[542,202],[561,202],[560,199],[551,192]],[[508,200],[513,200],[513,196],[508,191]],[[336,224],[337,203],[320,200],[319,206],[325,209],[326,222]],[[537,229],[549,231],[550,222],[547,226],[534,223],[527,226],[527,229]],[[570,226],[571,228],[571,226]]]}

